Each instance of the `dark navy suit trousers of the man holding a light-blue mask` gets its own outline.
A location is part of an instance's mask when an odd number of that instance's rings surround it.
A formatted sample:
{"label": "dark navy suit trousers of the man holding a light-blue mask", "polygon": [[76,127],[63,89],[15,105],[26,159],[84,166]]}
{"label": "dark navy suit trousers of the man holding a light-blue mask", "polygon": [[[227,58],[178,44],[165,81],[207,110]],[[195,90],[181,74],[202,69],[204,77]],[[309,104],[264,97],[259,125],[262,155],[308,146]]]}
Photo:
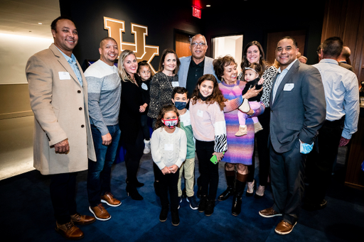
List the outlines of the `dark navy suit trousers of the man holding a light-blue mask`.
{"label": "dark navy suit trousers of the man holding a light-blue mask", "polygon": [[269,148],[273,209],[283,214],[284,221],[296,223],[301,211],[304,195],[304,167],[307,155],[299,152],[299,139],[293,148],[285,153],[277,153],[272,144]]}

